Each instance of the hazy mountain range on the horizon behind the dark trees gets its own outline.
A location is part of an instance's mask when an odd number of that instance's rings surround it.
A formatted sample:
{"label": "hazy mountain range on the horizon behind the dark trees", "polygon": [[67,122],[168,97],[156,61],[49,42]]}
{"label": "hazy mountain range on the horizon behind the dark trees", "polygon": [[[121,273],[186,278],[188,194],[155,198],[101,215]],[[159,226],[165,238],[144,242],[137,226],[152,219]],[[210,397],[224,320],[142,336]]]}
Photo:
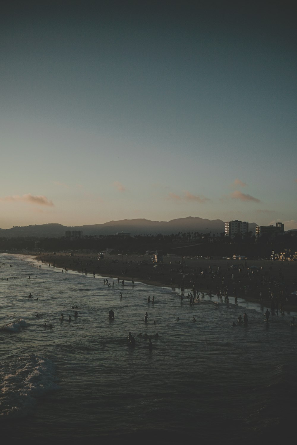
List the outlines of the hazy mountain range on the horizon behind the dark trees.
{"label": "hazy mountain range on the horizon behind the dark trees", "polygon": [[[256,223],[249,223],[249,230],[255,234]],[[16,226],[11,229],[0,229],[1,237],[49,237],[59,238],[65,236],[65,231],[81,230],[83,235],[115,235],[117,232],[127,232],[134,235],[163,235],[177,234],[179,232],[212,232],[220,234],[225,231],[225,223],[220,219],[203,219],[188,216],[187,218],[171,219],[171,221],[150,221],[149,219],[123,219],[109,221],[103,224],[86,224],[84,226],[68,227],[62,224],[41,224],[34,226]]]}

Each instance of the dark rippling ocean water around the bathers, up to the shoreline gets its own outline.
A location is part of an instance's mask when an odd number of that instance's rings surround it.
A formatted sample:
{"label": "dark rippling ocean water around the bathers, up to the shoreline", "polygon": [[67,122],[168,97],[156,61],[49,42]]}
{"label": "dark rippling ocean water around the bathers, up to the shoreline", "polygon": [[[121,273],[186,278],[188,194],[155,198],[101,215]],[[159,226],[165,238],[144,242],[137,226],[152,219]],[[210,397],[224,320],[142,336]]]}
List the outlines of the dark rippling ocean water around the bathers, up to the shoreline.
{"label": "dark rippling ocean water around the bathers, up to the shoreline", "polygon": [[[102,277],[62,273],[21,255],[0,260],[2,439],[220,444],[295,437],[293,314],[266,323],[266,307],[243,300],[236,308],[233,299],[206,295],[190,306],[180,303],[178,289],[122,287],[116,279],[109,288]],[[233,328],[244,312],[248,326]],[[158,332],[152,352],[140,332]]]}

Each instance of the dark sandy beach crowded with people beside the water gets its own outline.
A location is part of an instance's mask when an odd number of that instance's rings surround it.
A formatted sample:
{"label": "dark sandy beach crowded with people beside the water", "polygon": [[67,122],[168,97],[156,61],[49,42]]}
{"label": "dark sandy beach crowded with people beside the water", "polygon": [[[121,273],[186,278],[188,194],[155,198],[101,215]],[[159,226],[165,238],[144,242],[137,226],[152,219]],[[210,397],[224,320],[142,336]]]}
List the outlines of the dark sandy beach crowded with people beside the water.
{"label": "dark sandy beach crowded with people beside the water", "polygon": [[[293,261],[199,258],[184,258],[182,261],[181,257],[172,255],[164,257],[163,263],[153,264],[151,257],[145,255],[104,255],[103,259],[98,259],[97,255],[80,253],[73,256],[66,253],[56,255],[42,253],[37,259],[47,266],[50,264],[50,267],[61,267],[88,275],[101,275],[107,279],[119,278],[121,282],[134,280],[134,285],[142,282],[175,289],[180,289],[183,285],[185,296],[188,290],[193,288],[193,283],[198,292],[211,291],[213,296],[227,285],[230,302],[234,302],[236,295],[260,303],[259,295],[262,291],[262,304],[269,308],[271,307],[269,292],[272,291],[279,301],[281,295],[284,295],[285,311],[297,311],[297,297],[290,295],[290,292],[297,290],[297,262]],[[147,263],[143,263],[144,261]],[[235,270],[232,268],[233,265],[236,266]],[[256,266],[259,270],[251,272],[249,269],[251,266]]]}

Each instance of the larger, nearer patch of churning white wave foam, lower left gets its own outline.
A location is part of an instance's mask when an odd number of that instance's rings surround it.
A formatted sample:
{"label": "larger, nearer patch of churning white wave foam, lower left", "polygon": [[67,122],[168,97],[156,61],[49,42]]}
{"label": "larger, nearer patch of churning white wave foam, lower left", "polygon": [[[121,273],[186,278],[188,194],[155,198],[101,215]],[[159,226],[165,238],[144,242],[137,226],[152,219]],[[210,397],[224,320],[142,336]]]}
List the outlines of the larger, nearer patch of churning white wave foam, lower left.
{"label": "larger, nearer patch of churning white wave foam, lower left", "polygon": [[21,357],[1,370],[0,416],[26,416],[45,392],[56,390],[55,365],[41,356]]}

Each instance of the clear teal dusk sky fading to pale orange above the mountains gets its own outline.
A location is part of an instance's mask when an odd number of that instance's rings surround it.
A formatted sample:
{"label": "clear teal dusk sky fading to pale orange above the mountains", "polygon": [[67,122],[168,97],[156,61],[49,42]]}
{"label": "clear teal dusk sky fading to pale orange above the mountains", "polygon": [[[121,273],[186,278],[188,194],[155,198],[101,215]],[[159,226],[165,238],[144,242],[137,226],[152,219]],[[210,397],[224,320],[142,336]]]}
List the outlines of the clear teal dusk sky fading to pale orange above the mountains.
{"label": "clear teal dusk sky fading to pale orange above the mountains", "polygon": [[2,229],[187,216],[297,229],[293,1],[6,3]]}

